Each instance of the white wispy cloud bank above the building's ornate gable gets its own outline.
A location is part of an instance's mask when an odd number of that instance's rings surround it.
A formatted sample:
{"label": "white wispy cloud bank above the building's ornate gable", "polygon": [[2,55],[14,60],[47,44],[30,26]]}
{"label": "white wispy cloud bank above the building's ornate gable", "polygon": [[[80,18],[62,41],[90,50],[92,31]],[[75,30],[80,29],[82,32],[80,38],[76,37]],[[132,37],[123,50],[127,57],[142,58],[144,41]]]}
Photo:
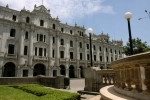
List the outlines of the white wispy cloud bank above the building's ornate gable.
{"label": "white wispy cloud bank above the building's ornate gable", "polygon": [[[114,14],[113,7],[103,5],[103,2],[105,0],[43,0],[52,17],[59,16],[62,21],[71,21],[95,13]],[[32,11],[35,4],[37,6],[42,4],[42,0],[0,0],[0,5],[6,4],[12,9],[21,10],[25,6],[27,10]]]}

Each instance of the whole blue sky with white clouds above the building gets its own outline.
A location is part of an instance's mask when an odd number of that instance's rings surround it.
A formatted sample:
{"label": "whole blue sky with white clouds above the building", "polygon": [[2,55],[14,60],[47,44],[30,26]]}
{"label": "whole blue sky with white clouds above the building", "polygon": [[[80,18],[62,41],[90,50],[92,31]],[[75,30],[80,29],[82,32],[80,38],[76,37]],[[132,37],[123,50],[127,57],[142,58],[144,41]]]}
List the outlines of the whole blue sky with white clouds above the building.
{"label": "whole blue sky with white clouds above the building", "polygon": [[110,40],[122,40],[124,45],[129,38],[124,14],[131,12],[132,38],[138,37],[150,45],[150,17],[145,12],[150,12],[150,0],[0,0],[0,6],[8,4],[9,8],[18,11],[24,7],[33,11],[34,5],[40,6],[42,1],[50,9],[51,16],[58,16],[61,23],[84,25],[97,35],[108,33]]}

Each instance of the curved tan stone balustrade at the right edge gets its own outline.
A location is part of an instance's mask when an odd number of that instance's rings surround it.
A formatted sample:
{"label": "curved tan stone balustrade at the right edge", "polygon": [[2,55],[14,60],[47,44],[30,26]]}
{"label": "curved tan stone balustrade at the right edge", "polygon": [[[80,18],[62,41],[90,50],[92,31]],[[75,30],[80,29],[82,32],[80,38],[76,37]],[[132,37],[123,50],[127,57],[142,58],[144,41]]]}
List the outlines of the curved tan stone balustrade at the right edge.
{"label": "curved tan stone balustrade at the right edge", "polygon": [[138,100],[150,98],[150,52],[132,55],[111,64],[115,91]]}

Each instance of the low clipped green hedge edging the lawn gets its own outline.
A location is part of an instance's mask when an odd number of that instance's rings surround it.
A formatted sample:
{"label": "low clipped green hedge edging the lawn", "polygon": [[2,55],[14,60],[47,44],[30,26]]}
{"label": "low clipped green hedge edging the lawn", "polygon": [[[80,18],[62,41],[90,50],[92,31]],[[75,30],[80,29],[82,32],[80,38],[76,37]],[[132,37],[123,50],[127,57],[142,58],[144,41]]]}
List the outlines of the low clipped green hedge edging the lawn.
{"label": "low clipped green hedge edging the lawn", "polygon": [[[15,85],[10,87],[35,95],[40,100],[80,100],[80,96],[77,93],[70,93],[70,92],[45,88],[44,86],[38,84],[23,84],[23,85],[17,85],[17,86]],[[17,99],[13,99],[13,100],[17,100]]]}

